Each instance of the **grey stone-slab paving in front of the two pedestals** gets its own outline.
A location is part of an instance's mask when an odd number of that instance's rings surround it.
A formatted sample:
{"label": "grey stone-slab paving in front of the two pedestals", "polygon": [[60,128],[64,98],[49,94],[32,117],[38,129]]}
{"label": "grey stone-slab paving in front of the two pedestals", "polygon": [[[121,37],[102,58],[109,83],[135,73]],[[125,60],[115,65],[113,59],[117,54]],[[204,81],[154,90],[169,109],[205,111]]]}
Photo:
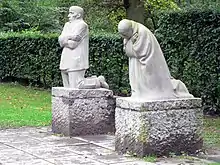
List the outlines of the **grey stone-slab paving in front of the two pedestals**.
{"label": "grey stone-slab paving in front of the two pedestals", "polygon": [[[188,162],[187,162],[188,161]],[[150,163],[114,152],[114,136],[61,137],[48,127],[0,130],[0,165],[202,165],[204,160]]]}

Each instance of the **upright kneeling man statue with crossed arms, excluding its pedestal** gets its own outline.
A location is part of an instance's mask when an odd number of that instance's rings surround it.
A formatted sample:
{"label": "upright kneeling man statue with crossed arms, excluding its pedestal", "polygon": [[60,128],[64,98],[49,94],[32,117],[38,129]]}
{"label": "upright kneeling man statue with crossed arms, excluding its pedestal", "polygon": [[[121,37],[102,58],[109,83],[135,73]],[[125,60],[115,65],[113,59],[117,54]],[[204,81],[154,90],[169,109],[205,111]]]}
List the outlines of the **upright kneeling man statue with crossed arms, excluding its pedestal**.
{"label": "upright kneeling man statue with crossed arms, excluding its pedestal", "polygon": [[63,86],[76,89],[109,88],[103,76],[84,78],[89,68],[89,30],[83,15],[83,8],[71,6],[69,22],[58,39],[63,47],[60,61]]}

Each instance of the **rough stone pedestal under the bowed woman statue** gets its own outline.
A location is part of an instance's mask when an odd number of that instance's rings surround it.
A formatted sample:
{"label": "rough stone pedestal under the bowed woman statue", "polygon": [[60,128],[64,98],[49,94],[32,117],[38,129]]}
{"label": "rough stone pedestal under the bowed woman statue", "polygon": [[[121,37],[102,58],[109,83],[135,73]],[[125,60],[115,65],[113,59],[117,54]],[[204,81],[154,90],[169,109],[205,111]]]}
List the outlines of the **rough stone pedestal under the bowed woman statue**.
{"label": "rough stone pedestal under the bowed woman statue", "polygon": [[196,153],[202,148],[201,99],[116,99],[116,151],[137,156]]}

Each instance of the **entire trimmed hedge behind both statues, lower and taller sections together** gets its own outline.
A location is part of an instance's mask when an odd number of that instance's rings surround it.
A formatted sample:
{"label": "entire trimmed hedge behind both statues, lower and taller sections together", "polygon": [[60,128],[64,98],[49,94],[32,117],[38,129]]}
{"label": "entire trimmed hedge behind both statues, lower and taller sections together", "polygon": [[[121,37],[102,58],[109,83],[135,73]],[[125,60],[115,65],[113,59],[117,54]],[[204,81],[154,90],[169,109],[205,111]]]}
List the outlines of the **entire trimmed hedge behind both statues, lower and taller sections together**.
{"label": "entire trimmed hedge behind both statues, lower and taller sections together", "polygon": [[[160,16],[156,36],[172,76],[182,80],[206,111],[220,112],[220,13],[180,11]],[[44,87],[61,85],[58,35],[0,35],[0,78],[16,77]],[[87,76],[104,75],[116,95],[130,93],[128,59],[115,35],[91,35]]]}

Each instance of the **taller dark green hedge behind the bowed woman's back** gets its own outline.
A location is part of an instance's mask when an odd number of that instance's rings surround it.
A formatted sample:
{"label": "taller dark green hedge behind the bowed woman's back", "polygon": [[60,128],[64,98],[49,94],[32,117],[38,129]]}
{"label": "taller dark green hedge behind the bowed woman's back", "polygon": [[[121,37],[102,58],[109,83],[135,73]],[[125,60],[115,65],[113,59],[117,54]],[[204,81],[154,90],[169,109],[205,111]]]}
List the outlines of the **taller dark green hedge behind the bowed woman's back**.
{"label": "taller dark green hedge behind the bowed woman's back", "polygon": [[158,27],[172,75],[202,97],[206,111],[220,112],[220,12],[164,13]]}

